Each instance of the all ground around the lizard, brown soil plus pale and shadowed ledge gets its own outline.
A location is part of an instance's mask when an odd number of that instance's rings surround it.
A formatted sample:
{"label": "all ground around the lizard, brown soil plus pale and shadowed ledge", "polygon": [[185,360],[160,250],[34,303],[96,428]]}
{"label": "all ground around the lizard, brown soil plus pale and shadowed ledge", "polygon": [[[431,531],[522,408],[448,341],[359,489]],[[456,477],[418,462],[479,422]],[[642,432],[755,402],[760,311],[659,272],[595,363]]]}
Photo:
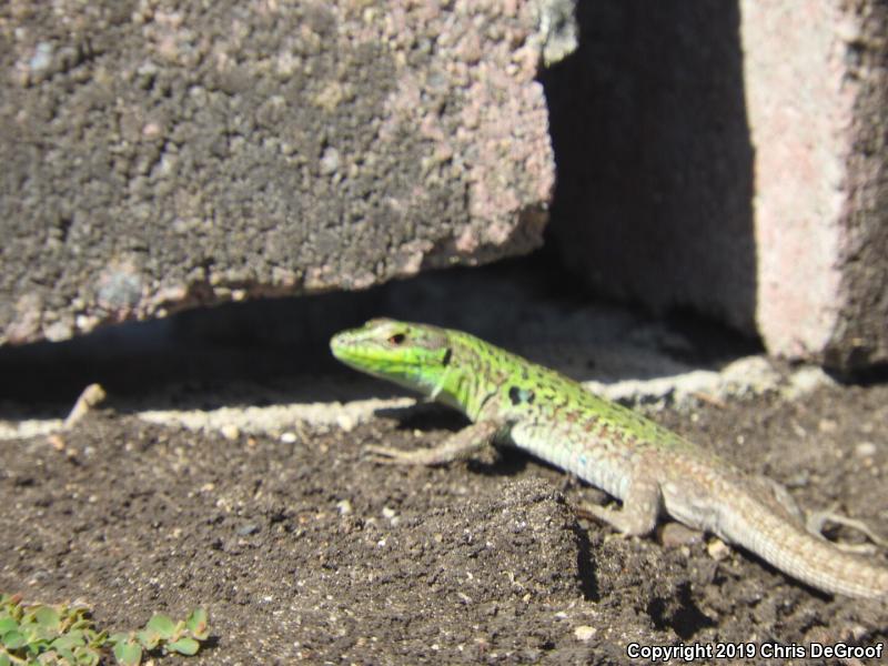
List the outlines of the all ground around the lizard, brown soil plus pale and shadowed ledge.
{"label": "all ground around the lizard, brown soil plus pale and shadowed ledge", "polygon": [[[675,523],[619,537],[578,517],[603,493],[521,452],[441,468],[367,460],[369,444],[430,446],[465,424],[332,362],[332,331],[387,313],[594,380],[801,506],[837,504],[888,536],[888,383],[838,384],[534,274],[453,271],[1,351],[0,591],[81,599],[112,630],[205,606],[196,664],[615,664],[633,645],[774,664],[763,650],[806,663],[811,643],[885,646],[884,606]],[[90,381],[109,398],[58,432]]]}

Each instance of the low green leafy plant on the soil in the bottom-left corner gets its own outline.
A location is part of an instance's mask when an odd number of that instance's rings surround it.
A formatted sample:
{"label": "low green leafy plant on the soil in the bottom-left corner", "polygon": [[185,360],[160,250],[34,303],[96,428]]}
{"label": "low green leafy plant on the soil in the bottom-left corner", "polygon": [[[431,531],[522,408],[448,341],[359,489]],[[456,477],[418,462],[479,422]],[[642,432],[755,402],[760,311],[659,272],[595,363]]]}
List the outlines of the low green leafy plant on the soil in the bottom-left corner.
{"label": "low green leafy plant on the soil in the bottom-left corner", "polygon": [[145,652],[193,655],[209,635],[203,608],[180,622],[154,615],[141,630],[109,636],[95,629],[85,606],[24,605],[21,595],[0,594],[0,666],[95,666],[109,650],[118,664],[137,666]]}

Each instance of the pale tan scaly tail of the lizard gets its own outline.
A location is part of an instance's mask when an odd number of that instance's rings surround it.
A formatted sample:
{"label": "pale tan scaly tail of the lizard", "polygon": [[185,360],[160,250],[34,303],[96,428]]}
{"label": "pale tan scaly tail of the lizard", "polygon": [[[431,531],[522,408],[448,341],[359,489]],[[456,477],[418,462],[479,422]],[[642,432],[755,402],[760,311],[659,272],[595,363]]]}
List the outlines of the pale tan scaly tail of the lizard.
{"label": "pale tan scaly tail of the lizard", "polygon": [[727,541],[824,592],[888,599],[888,567],[845,553],[760,505],[747,508],[725,522]]}

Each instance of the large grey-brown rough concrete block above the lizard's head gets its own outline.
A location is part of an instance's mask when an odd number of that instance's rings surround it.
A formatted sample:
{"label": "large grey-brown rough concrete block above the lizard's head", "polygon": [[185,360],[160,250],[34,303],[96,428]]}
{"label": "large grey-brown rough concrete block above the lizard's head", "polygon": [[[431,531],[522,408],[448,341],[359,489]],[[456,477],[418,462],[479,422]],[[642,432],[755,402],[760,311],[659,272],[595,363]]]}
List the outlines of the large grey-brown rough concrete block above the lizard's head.
{"label": "large grey-brown rough concrete block above the lizard's head", "polygon": [[0,344],[541,243],[569,1],[0,4]]}

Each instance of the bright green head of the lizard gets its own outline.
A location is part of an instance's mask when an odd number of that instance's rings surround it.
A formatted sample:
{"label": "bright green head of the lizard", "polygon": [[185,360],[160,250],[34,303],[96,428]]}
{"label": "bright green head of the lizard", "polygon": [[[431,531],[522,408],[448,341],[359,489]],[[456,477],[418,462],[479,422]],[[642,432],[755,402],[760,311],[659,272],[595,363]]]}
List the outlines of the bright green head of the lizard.
{"label": "bright green head of the lizard", "polygon": [[346,365],[431,397],[444,387],[452,356],[447,332],[437,326],[374,319],[336,333],[333,355]]}

